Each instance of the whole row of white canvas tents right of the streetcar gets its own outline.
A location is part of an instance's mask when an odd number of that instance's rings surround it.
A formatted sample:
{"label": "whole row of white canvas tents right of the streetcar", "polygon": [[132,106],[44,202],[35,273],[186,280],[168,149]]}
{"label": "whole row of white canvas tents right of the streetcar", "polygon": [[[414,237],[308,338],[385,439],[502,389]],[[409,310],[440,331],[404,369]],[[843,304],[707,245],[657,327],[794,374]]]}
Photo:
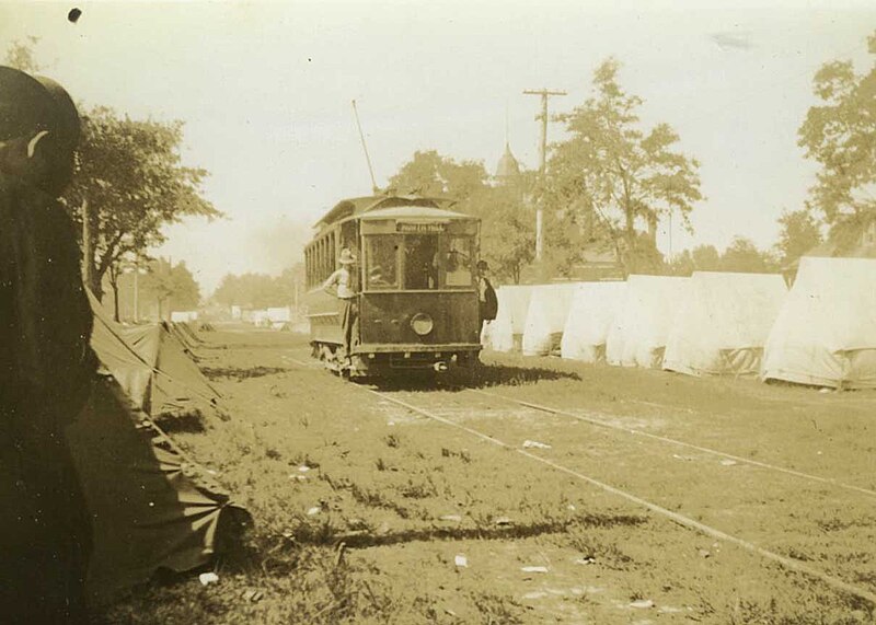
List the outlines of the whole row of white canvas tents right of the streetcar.
{"label": "whole row of white canvas tents right of the streetcar", "polygon": [[876,387],[876,259],[800,259],[782,276],[695,271],[508,286],[485,345],[690,375]]}

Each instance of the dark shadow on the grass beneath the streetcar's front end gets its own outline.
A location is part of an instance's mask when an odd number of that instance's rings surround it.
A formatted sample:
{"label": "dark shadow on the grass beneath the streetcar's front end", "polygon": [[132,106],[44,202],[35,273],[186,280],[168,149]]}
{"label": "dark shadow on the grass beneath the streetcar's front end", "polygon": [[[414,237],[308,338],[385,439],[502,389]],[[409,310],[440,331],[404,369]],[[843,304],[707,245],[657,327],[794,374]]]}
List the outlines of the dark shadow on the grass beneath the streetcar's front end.
{"label": "dark shadow on the grass beneath the streetcar's front end", "polygon": [[522,386],[542,380],[576,380],[580,375],[543,367],[515,367],[510,364],[481,364],[472,371],[451,370],[447,373],[412,371],[391,378],[366,378],[361,382],[378,391],[464,391],[494,386]]}

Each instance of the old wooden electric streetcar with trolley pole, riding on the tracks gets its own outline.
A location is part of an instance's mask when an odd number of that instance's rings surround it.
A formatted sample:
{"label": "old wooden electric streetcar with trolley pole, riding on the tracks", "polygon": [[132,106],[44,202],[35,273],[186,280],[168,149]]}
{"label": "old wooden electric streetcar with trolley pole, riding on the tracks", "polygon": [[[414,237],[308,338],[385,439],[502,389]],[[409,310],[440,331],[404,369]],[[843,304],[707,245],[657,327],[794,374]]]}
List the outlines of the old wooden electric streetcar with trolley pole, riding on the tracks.
{"label": "old wooden electric streetcar with trolley pole, riding on the tracks", "polygon": [[[304,248],[313,356],[349,377],[471,371],[481,351],[476,264],[480,220],[419,196],[345,199]],[[323,289],[344,250],[358,308],[345,354],[342,303]]]}

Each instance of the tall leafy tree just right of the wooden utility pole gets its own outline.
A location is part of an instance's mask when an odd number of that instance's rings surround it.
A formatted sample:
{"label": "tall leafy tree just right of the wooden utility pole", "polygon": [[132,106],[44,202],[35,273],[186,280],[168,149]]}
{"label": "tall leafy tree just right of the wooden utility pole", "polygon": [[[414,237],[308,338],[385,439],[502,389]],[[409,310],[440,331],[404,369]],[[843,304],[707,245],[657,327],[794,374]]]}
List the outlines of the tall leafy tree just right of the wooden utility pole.
{"label": "tall leafy tree just right of the wooden utility pole", "polygon": [[673,150],[679,136],[669,125],[641,128],[643,100],[622,90],[619,70],[616,60],[603,62],[593,74],[597,94],[557,116],[572,137],[553,147],[545,200],[591,239],[609,241],[633,271],[654,264],[660,219],[677,213],[690,230],[703,196],[699,162]]}

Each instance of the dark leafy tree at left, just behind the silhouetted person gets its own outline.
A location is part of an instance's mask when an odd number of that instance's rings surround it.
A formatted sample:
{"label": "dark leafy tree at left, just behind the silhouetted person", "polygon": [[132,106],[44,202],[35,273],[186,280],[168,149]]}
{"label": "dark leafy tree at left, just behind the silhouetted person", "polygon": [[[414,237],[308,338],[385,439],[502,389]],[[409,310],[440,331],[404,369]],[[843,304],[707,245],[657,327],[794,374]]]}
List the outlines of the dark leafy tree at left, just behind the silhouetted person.
{"label": "dark leafy tree at left, just behind the silhouetted person", "polygon": [[88,216],[91,254],[84,262],[96,297],[111,267],[111,280],[118,277],[125,255],[164,241],[164,225],[185,216],[221,217],[200,196],[207,172],[181,164],[182,138],[182,121],[122,118],[105,107],[83,116],[79,163],[64,201],[80,225]]}

